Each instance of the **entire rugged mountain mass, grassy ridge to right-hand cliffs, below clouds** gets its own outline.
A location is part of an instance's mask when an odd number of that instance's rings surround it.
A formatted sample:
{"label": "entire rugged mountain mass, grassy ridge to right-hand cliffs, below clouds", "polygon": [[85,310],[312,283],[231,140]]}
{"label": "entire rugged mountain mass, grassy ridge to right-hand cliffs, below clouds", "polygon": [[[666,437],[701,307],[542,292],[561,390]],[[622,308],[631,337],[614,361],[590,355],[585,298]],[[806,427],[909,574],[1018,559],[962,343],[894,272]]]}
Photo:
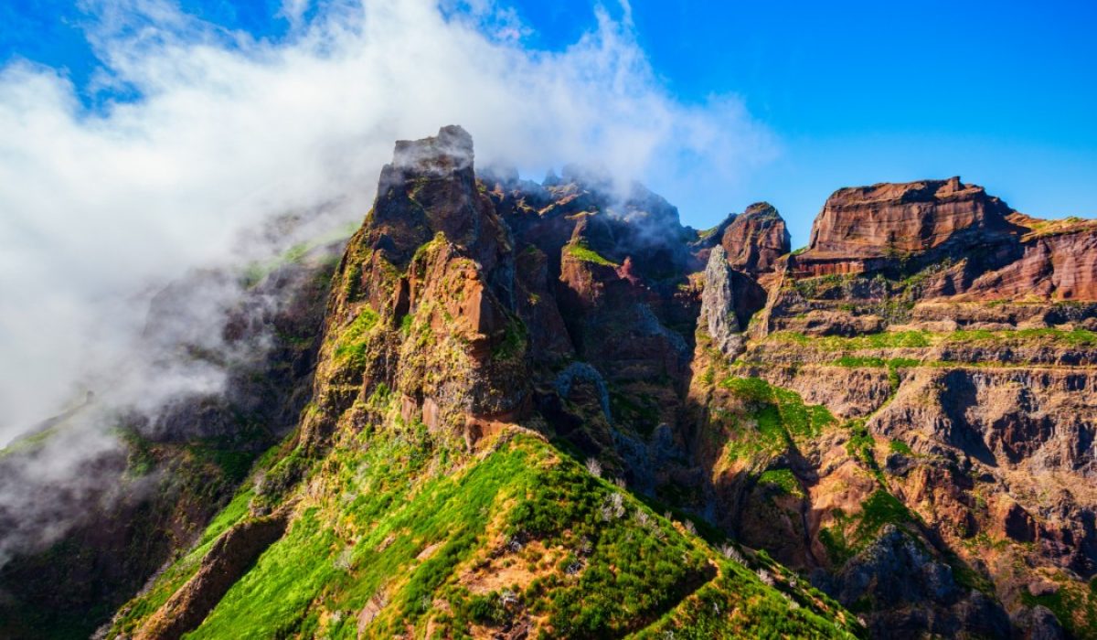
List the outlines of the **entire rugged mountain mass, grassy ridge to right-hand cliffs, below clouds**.
{"label": "entire rugged mountain mass, grassy ridge to right-hand cliffs, below clouds", "polygon": [[250,284],[295,302],[208,428],[125,431],[145,491],[0,570],[0,635],[1097,638],[1097,222],[882,183],[791,249],[397,143],[337,260]]}

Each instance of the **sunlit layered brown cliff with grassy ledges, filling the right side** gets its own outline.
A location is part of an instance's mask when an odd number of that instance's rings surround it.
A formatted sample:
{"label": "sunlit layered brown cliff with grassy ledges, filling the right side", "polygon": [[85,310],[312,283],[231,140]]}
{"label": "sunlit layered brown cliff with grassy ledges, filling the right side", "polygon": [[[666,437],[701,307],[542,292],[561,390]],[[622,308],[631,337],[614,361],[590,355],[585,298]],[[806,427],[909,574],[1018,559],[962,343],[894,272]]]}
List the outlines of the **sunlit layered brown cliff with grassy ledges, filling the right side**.
{"label": "sunlit layered brown cliff with grassy ledges, filling the right side", "polygon": [[[1083,293],[1094,273],[1083,247],[1094,237],[1092,222],[1031,218],[958,179],[845,189],[807,250],[785,258],[771,283],[735,373],[826,406],[848,434],[830,440],[824,428],[793,437],[778,458],[748,457],[756,469],[777,460],[801,487],[783,507],[784,539],[795,539],[800,513],[804,544],[774,551],[817,566],[817,584],[847,606],[883,609],[870,615],[878,632],[1004,637],[1002,613],[984,596],[1011,614],[1015,633],[1097,632],[1086,584],[1097,504],[1085,489],[1097,307]],[[1056,258],[1056,244],[1079,250]],[[699,391],[709,411],[722,404]],[[850,475],[851,464],[861,471]],[[735,497],[720,502],[740,528],[772,517],[753,497],[751,476],[714,476],[717,489],[731,483]],[[875,513],[885,501],[894,501],[890,516]],[[864,565],[866,554],[881,549],[866,539],[866,518],[897,518],[900,531],[938,550],[935,562],[966,576],[970,595],[941,587],[914,597],[911,585],[844,592],[851,580],[879,580],[863,574],[878,565]],[[742,535],[764,544],[766,532],[748,525]]]}

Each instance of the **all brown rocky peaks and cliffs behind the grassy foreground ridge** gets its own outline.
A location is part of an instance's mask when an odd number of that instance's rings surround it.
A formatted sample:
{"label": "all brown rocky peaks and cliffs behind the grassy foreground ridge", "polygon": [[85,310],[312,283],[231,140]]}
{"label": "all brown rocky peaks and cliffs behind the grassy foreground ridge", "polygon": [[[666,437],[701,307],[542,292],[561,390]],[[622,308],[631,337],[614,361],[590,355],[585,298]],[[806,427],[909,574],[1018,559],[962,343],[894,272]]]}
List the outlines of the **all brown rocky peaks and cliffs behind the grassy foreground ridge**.
{"label": "all brown rocky peaks and cliffs behind the grassy foreground ridge", "polygon": [[[1093,295],[1090,226],[1020,216],[959,179],[877,184],[835,193],[810,249],[785,257],[768,204],[688,244],[661,199],[590,180],[478,181],[456,127],[399,143],[336,280],[305,441],[384,425],[369,414],[389,393],[405,423],[470,449],[530,418],[607,478],[812,573],[878,637],[1007,636],[997,603],[958,580],[971,569],[1006,599],[1019,583],[982,564],[996,554],[1094,574],[1092,345],[925,334],[1092,319],[960,302]],[[921,333],[880,335],[906,323]]]}

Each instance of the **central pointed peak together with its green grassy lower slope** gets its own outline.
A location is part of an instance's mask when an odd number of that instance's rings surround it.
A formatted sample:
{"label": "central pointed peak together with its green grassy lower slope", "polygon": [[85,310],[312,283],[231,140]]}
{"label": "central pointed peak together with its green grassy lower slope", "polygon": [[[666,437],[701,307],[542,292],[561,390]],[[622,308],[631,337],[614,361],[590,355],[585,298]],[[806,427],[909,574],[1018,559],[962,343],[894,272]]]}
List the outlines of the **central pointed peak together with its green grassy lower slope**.
{"label": "central pointed peak together with its green grassy lower slope", "polygon": [[[623,358],[595,344],[589,316],[545,308],[555,306],[548,269],[574,277],[575,295],[563,300],[576,310],[620,318],[672,356],[629,358],[631,384],[652,367],[678,373],[688,361],[685,339],[629,299],[627,272],[603,287],[590,271],[610,262],[597,252],[601,234],[635,223],[583,220],[570,237],[546,234],[558,266],[535,245],[517,250],[457,127],[399,143],[380,182],[332,282],[298,431],[199,544],[118,613],[108,637],[857,631],[849,614],[768,555],[717,552],[690,520],[660,516],[623,481],[597,478],[593,457],[587,467],[573,459],[586,460],[586,447],[604,453],[608,473],[621,468],[610,457],[612,409],[598,393],[606,383],[554,332],[579,321],[584,349]],[[664,255],[685,263],[681,247]],[[543,388],[546,378],[556,386]],[[589,402],[579,388],[593,391]],[[643,393],[622,388],[619,403]],[[601,415],[581,419],[591,402]]]}

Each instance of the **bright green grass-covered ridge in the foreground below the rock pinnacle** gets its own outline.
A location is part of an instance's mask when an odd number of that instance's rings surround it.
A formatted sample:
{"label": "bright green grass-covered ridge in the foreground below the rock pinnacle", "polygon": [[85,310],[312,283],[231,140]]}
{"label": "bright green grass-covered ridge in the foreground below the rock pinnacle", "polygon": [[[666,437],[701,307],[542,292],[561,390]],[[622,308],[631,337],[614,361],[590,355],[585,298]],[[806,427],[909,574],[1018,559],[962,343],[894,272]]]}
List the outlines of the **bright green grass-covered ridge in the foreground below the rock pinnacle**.
{"label": "bright green grass-covered ridge in the foreground below the rock pinnacle", "polygon": [[[456,459],[418,424],[348,438],[310,480],[317,497],[186,637],[462,638],[519,624],[531,637],[848,637],[842,620],[856,626],[791,576],[765,584],[540,437],[508,431]],[[216,536],[250,517],[249,498],[114,631],[138,628],[184,583]]]}

